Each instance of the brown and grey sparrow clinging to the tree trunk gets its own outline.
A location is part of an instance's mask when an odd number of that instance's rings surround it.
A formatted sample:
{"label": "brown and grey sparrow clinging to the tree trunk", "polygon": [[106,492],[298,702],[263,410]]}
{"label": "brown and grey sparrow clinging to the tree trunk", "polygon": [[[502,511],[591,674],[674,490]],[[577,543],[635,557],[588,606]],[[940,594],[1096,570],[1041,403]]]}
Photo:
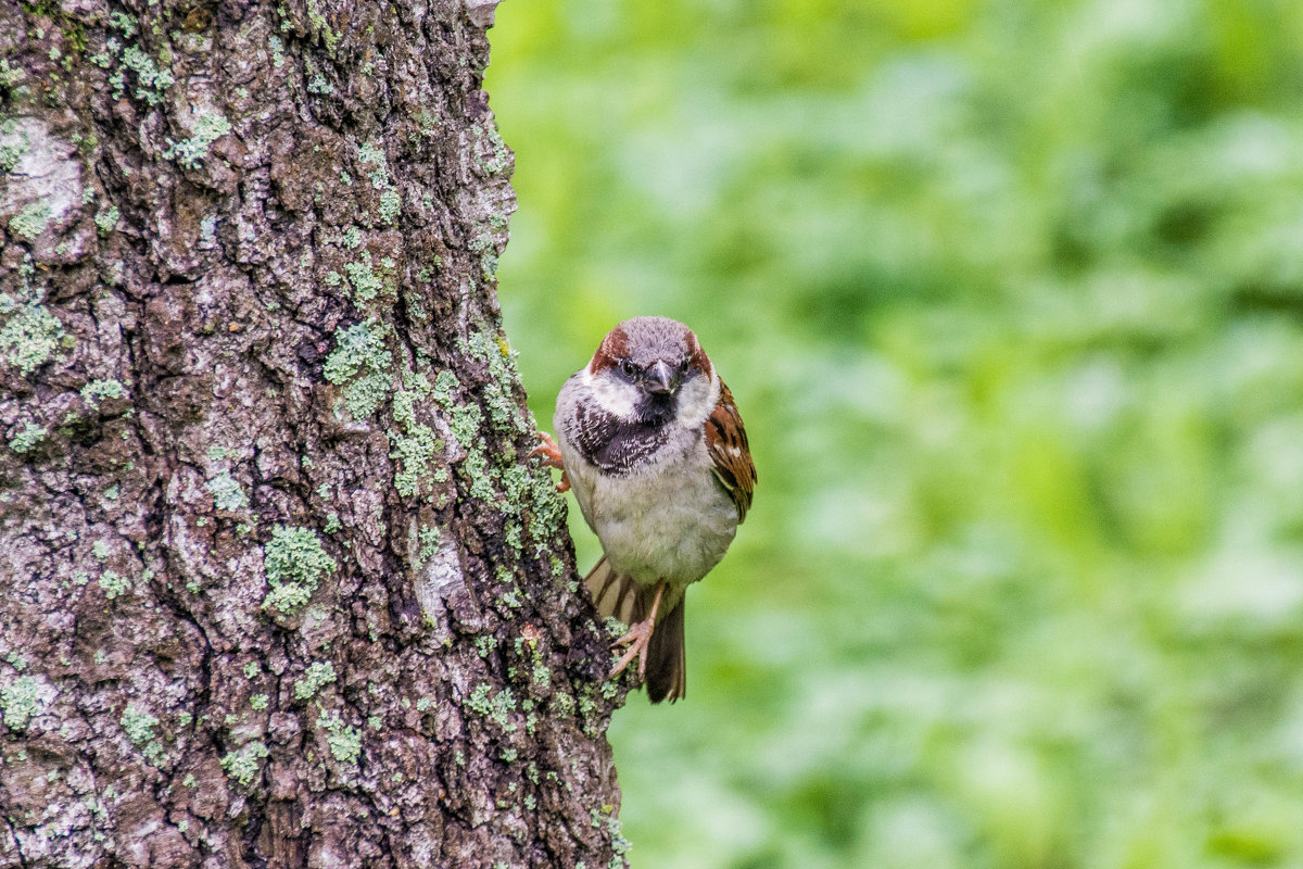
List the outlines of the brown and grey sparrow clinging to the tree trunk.
{"label": "brown and grey sparrow clinging to the tree trunk", "polygon": [[556,396],[556,440],[534,455],[560,468],[603,555],[584,584],[629,632],[653,704],[684,696],[683,598],[747,517],[756,465],[732,393],[697,336],[666,317],[612,328]]}

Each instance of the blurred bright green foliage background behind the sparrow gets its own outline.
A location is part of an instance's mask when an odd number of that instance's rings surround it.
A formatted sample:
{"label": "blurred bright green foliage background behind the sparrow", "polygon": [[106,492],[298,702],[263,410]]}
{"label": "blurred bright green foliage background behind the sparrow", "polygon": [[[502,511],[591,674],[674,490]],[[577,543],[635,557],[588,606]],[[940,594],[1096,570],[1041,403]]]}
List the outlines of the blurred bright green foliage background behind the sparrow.
{"label": "blurred bright green foliage background behind the sparrow", "polygon": [[666,314],[760,468],[687,701],[611,728],[633,866],[1303,866],[1303,4],[491,38],[541,423]]}

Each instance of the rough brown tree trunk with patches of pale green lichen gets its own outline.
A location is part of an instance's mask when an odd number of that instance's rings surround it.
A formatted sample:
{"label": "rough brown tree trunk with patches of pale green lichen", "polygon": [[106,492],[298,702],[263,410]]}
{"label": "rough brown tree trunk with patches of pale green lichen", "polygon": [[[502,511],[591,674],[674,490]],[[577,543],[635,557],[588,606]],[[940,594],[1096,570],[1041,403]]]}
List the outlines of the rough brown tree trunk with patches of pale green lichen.
{"label": "rough brown tree trunk with patches of pale green lichen", "polygon": [[0,0],[0,866],[623,864],[491,16]]}

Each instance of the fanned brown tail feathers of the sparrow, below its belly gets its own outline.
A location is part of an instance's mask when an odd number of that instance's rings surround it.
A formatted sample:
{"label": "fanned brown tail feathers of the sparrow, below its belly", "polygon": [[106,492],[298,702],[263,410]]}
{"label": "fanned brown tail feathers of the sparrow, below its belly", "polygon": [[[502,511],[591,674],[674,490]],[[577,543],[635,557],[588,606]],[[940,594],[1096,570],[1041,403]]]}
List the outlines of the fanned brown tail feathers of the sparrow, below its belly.
{"label": "fanned brown tail feathers of the sparrow, below its belly", "polygon": [[[584,585],[593,598],[593,606],[601,616],[615,616],[624,624],[642,621],[652,611],[655,598],[655,585],[635,582],[628,576],[619,576],[611,569],[603,555],[588,576]],[[666,612],[657,614],[655,629],[648,644],[646,688],[653,704],[662,700],[675,701],[687,691],[688,664],[683,644],[683,599]]]}

